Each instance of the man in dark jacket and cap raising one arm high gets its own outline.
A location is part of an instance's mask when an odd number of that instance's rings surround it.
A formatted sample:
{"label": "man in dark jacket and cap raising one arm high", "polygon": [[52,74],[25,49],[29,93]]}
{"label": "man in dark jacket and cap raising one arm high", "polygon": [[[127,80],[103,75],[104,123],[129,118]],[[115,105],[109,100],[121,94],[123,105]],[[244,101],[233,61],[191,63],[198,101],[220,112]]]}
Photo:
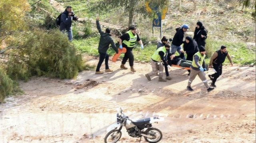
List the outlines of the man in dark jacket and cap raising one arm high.
{"label": "man in dark jacket and cap raising one arm high", "polygon": [[114,43],[114,40],[112,39],[111,35],[110,35],[110,29],[107,28],[106,32],[104,33],[101,28],[100,28],[100,22],[99,22],[99,18],[96,18],[96,25],[97,25],[97,29],[100,32],[100,42],[99,42],[99,47],[98,47],[98,52],[100,53],[100,61],[97,65],[97,69],[95,74],[103,74],[104,72],[100,71],[100,67],[105,59],[105,72],[112,72],[112,70],[109,69],[108,67],[108,47],[109,44],[111,44],[111,47],[116,51],[116,53],[118,53],[118,49]]}

